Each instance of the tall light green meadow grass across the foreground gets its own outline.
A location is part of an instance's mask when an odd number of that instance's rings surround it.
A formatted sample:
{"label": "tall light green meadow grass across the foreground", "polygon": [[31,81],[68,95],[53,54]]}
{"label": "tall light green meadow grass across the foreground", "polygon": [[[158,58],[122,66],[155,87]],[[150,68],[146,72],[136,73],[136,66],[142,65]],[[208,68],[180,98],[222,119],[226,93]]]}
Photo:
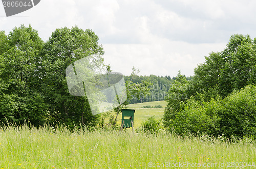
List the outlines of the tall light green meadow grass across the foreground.
{"label": "tall light green meadow grass across the foreground", "polygon": [[219,165],[256,159],[255,142],[250,139],[224,141],[222,137],[133,134],[131,130],[71,132],[65,127],[8,126],[0,128],[0,143],[0,168],[150,168],[150,164],[165,162]]}

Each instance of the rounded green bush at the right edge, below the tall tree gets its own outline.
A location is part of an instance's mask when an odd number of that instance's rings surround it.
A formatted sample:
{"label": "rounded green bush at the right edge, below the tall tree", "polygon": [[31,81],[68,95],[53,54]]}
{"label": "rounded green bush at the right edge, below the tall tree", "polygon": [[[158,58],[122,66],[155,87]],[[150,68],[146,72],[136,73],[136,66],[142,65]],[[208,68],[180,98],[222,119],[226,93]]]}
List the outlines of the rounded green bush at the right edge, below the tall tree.
{"label": "rounded green bush at the right edge, below the tall tree", "polygon": [[219,111],[220,130],[225,136],[256,135],[256,86],[248,85],[234,91],[223,101]]}

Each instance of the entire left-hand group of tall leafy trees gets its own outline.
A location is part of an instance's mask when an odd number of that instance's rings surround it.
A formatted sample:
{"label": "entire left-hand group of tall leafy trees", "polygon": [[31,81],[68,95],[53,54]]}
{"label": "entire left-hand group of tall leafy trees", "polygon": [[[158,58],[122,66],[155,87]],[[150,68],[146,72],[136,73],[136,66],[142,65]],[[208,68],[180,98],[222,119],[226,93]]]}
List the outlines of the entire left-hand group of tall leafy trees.
{"label": "entire left-hand group of tall leafy trees", "polygon": [[66,68],[92,55],[104,66],[98,39],[78,27],[56,29],[46,42],[31,26],[0,31],[0,124],[95,125],[86,96],[69,93]]}

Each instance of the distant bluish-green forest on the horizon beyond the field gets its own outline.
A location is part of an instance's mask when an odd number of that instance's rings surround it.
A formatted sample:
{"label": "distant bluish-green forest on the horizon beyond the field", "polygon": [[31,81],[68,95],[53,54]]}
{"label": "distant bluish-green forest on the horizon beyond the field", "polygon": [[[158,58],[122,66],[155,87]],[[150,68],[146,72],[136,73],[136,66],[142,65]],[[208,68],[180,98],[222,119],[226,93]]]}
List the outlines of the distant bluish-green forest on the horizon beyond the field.
{"label": "distant bluish-green forest on the horizon beyond the field", "polygon": [[[187,77],[187,80],[191,80],[193,77]],[[131,76],[124,76],[124,80],[132,80],[134,83],[142,83],[143,80],[149,80],[152,83],[150,87],[151,91],[148,95],[141,95],[141,99],[138,100],[136,97],[130,101],[131,104],[134,103],[143,103],[143,102],[154,102],[154,101],[163,101],[165,96],[172,86],[176,77],[171,78],[170,76],[136,76],[132,79]]]}

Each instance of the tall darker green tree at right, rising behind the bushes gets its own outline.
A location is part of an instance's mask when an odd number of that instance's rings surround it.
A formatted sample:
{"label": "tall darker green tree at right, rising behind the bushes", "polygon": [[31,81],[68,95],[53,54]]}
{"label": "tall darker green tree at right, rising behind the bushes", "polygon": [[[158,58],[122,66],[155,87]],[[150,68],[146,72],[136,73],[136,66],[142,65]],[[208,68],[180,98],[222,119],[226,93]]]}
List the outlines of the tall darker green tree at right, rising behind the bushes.
{"label": "tall darker green tree at right, rising behind the bushes", "polygon": [[210,53],[205,62],[195,68],[195,86],[225,97],[234,89],[255,83],[256,39],[249,35],[232,35],[227,48]]}

